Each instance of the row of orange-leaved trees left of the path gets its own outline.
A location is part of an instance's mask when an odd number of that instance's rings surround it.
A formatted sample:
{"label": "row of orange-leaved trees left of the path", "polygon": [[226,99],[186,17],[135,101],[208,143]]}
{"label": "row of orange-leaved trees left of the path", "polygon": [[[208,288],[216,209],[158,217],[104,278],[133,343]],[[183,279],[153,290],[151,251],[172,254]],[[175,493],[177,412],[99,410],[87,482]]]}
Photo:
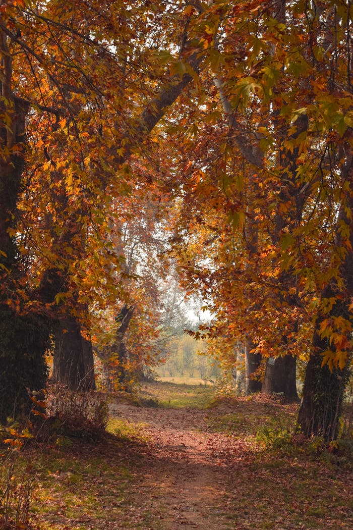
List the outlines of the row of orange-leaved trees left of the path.
{"label": "row of orange-leaved trees left of the path", "polygon": [[131,297],[129,253],[146,246],[167,197],[153,184],[148,134],[189,80],[156,72],[160,32],[175,31],[165,5],[13,1],[0,13],[5,420],[26,387],[45,386],[51,342],[54,375],[71,389],[94,388],[90,332],[110,313],[121,354],[125,313],[138,313],[149,284]]}

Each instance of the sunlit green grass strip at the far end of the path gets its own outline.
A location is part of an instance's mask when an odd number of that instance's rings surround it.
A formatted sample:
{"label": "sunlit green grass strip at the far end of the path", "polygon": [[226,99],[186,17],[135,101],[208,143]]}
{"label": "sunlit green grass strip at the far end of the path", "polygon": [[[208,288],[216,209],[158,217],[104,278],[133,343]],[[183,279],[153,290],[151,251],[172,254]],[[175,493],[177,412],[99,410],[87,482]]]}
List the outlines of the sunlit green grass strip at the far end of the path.
{"label": "sunlit green grass strip at the far end of the path", "polygon": [[141,385],[139,396],[142,404],[172,409],[205,409],[214,400],[211,386],[161,381]]}

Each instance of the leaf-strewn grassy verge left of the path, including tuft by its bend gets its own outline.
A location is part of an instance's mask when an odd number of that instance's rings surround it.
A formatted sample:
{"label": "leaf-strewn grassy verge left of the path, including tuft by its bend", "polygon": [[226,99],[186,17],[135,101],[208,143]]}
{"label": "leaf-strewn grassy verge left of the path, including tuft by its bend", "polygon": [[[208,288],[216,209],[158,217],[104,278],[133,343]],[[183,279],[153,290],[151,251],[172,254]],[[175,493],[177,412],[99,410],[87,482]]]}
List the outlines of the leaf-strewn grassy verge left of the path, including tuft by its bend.
{"label": "leaf-strewn grassy verge left of the path, including tuft by its bend", "polygon": [[99,443],[65,439],[37,454],[32,528],[103,530],[118,521],[120,528],[146,528],[132,498],[143,437],[122,421],[111,421],[108,429],[119,434]]}

